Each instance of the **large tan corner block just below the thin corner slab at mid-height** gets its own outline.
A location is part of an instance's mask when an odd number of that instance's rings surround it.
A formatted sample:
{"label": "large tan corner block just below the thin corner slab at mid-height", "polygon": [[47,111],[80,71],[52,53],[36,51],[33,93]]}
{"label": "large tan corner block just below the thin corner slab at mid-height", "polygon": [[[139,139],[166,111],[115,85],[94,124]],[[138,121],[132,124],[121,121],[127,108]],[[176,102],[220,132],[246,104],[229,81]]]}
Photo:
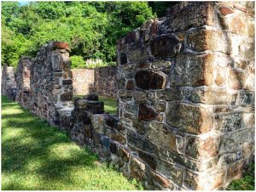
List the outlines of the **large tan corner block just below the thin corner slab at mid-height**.
{"label": "large tan corner block just below the thin corner slab at mid-height", "polygon": [[194,134],[209,132],[213,123],[211,113],[206,108],[176,102],[168,104],[166,121],[170,126]]}

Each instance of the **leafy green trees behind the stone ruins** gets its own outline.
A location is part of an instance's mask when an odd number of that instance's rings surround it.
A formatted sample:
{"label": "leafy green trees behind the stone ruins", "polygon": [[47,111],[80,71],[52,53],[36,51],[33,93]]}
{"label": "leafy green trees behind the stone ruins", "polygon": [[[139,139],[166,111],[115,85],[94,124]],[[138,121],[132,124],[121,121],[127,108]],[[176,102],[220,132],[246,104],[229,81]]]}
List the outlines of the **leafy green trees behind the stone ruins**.
{"label": "leafy green trees behind the stone ruins", "polygon": [[49,41],[68,42],[73,68],[86,59],[116,60],[116,43],[177,2],[2,2],[2,65],[35,57]]}

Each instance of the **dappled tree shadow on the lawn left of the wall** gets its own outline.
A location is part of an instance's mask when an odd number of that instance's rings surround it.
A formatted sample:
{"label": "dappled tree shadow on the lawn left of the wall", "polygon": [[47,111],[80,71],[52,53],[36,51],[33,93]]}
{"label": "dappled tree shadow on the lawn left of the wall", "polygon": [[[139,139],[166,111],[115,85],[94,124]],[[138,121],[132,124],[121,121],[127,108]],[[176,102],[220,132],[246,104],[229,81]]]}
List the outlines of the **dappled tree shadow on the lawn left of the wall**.
{"label": "dappled tree shadow on the lawn left of the wall", "polygon": [[[3,99],[3,102],[8,102]],[[80,150],[79,146],[70,141],[67,134],[61,133],[55,127],[50,127],[45,121],[32,116],[28,111],[14,111],[12,114],[5,114],[4,110],[20,109],[15,103],[2,104],[2,172],[6,173],[29,173],[27,165],[33,160],[38,163],[38,167],[32,171],[45,181],[59,180],[62,183],[72,182],[72,179],[63,177],[68,175],[73,167],[96,167],[96,155],[92,155],[89,150]],[[15,133],[15,129],[22,129],[22,132]],[[13,133],[10,133],[12,129]],[[63,150],[67,144],[71,145],[71,150],[65,151],[67,157],[60,158],[53,155],[50,149],[54,146],[63,145]],[[61,151],[59,151],[61,153]],[[63,151],[62,151],[63,152]],[[66,180],[66,181],[65,181]],[[3,189],[30,189],[22,187],[10,181]]]}

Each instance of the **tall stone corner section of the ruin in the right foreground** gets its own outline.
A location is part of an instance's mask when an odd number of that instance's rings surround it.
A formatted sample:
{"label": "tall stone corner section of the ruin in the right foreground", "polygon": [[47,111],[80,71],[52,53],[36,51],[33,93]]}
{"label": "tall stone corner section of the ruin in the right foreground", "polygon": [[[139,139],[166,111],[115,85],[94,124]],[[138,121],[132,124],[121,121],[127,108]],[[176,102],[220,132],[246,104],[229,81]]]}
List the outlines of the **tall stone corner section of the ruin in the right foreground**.
{"label": "tall stone corner section of the ruin in the right foreground", "polygon": [[178,3],[119,42],[128,174],[148,189],[224,189],[252,159],[253,8]]}

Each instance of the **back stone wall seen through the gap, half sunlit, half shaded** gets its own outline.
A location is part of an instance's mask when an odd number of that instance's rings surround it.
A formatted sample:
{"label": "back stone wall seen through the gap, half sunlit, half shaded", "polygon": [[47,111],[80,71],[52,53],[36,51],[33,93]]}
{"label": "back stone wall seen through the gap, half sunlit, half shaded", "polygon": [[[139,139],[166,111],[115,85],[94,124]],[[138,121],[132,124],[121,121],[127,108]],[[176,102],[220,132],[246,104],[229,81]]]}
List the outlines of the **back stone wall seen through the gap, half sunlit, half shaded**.
{"label": "back stone wall seen through the gap, half sunlit, half shaded", "polygon": [[96,93],[116,97],[116,67],[106,66],[95,69],[73,69],[73,88],[75,94]]}

